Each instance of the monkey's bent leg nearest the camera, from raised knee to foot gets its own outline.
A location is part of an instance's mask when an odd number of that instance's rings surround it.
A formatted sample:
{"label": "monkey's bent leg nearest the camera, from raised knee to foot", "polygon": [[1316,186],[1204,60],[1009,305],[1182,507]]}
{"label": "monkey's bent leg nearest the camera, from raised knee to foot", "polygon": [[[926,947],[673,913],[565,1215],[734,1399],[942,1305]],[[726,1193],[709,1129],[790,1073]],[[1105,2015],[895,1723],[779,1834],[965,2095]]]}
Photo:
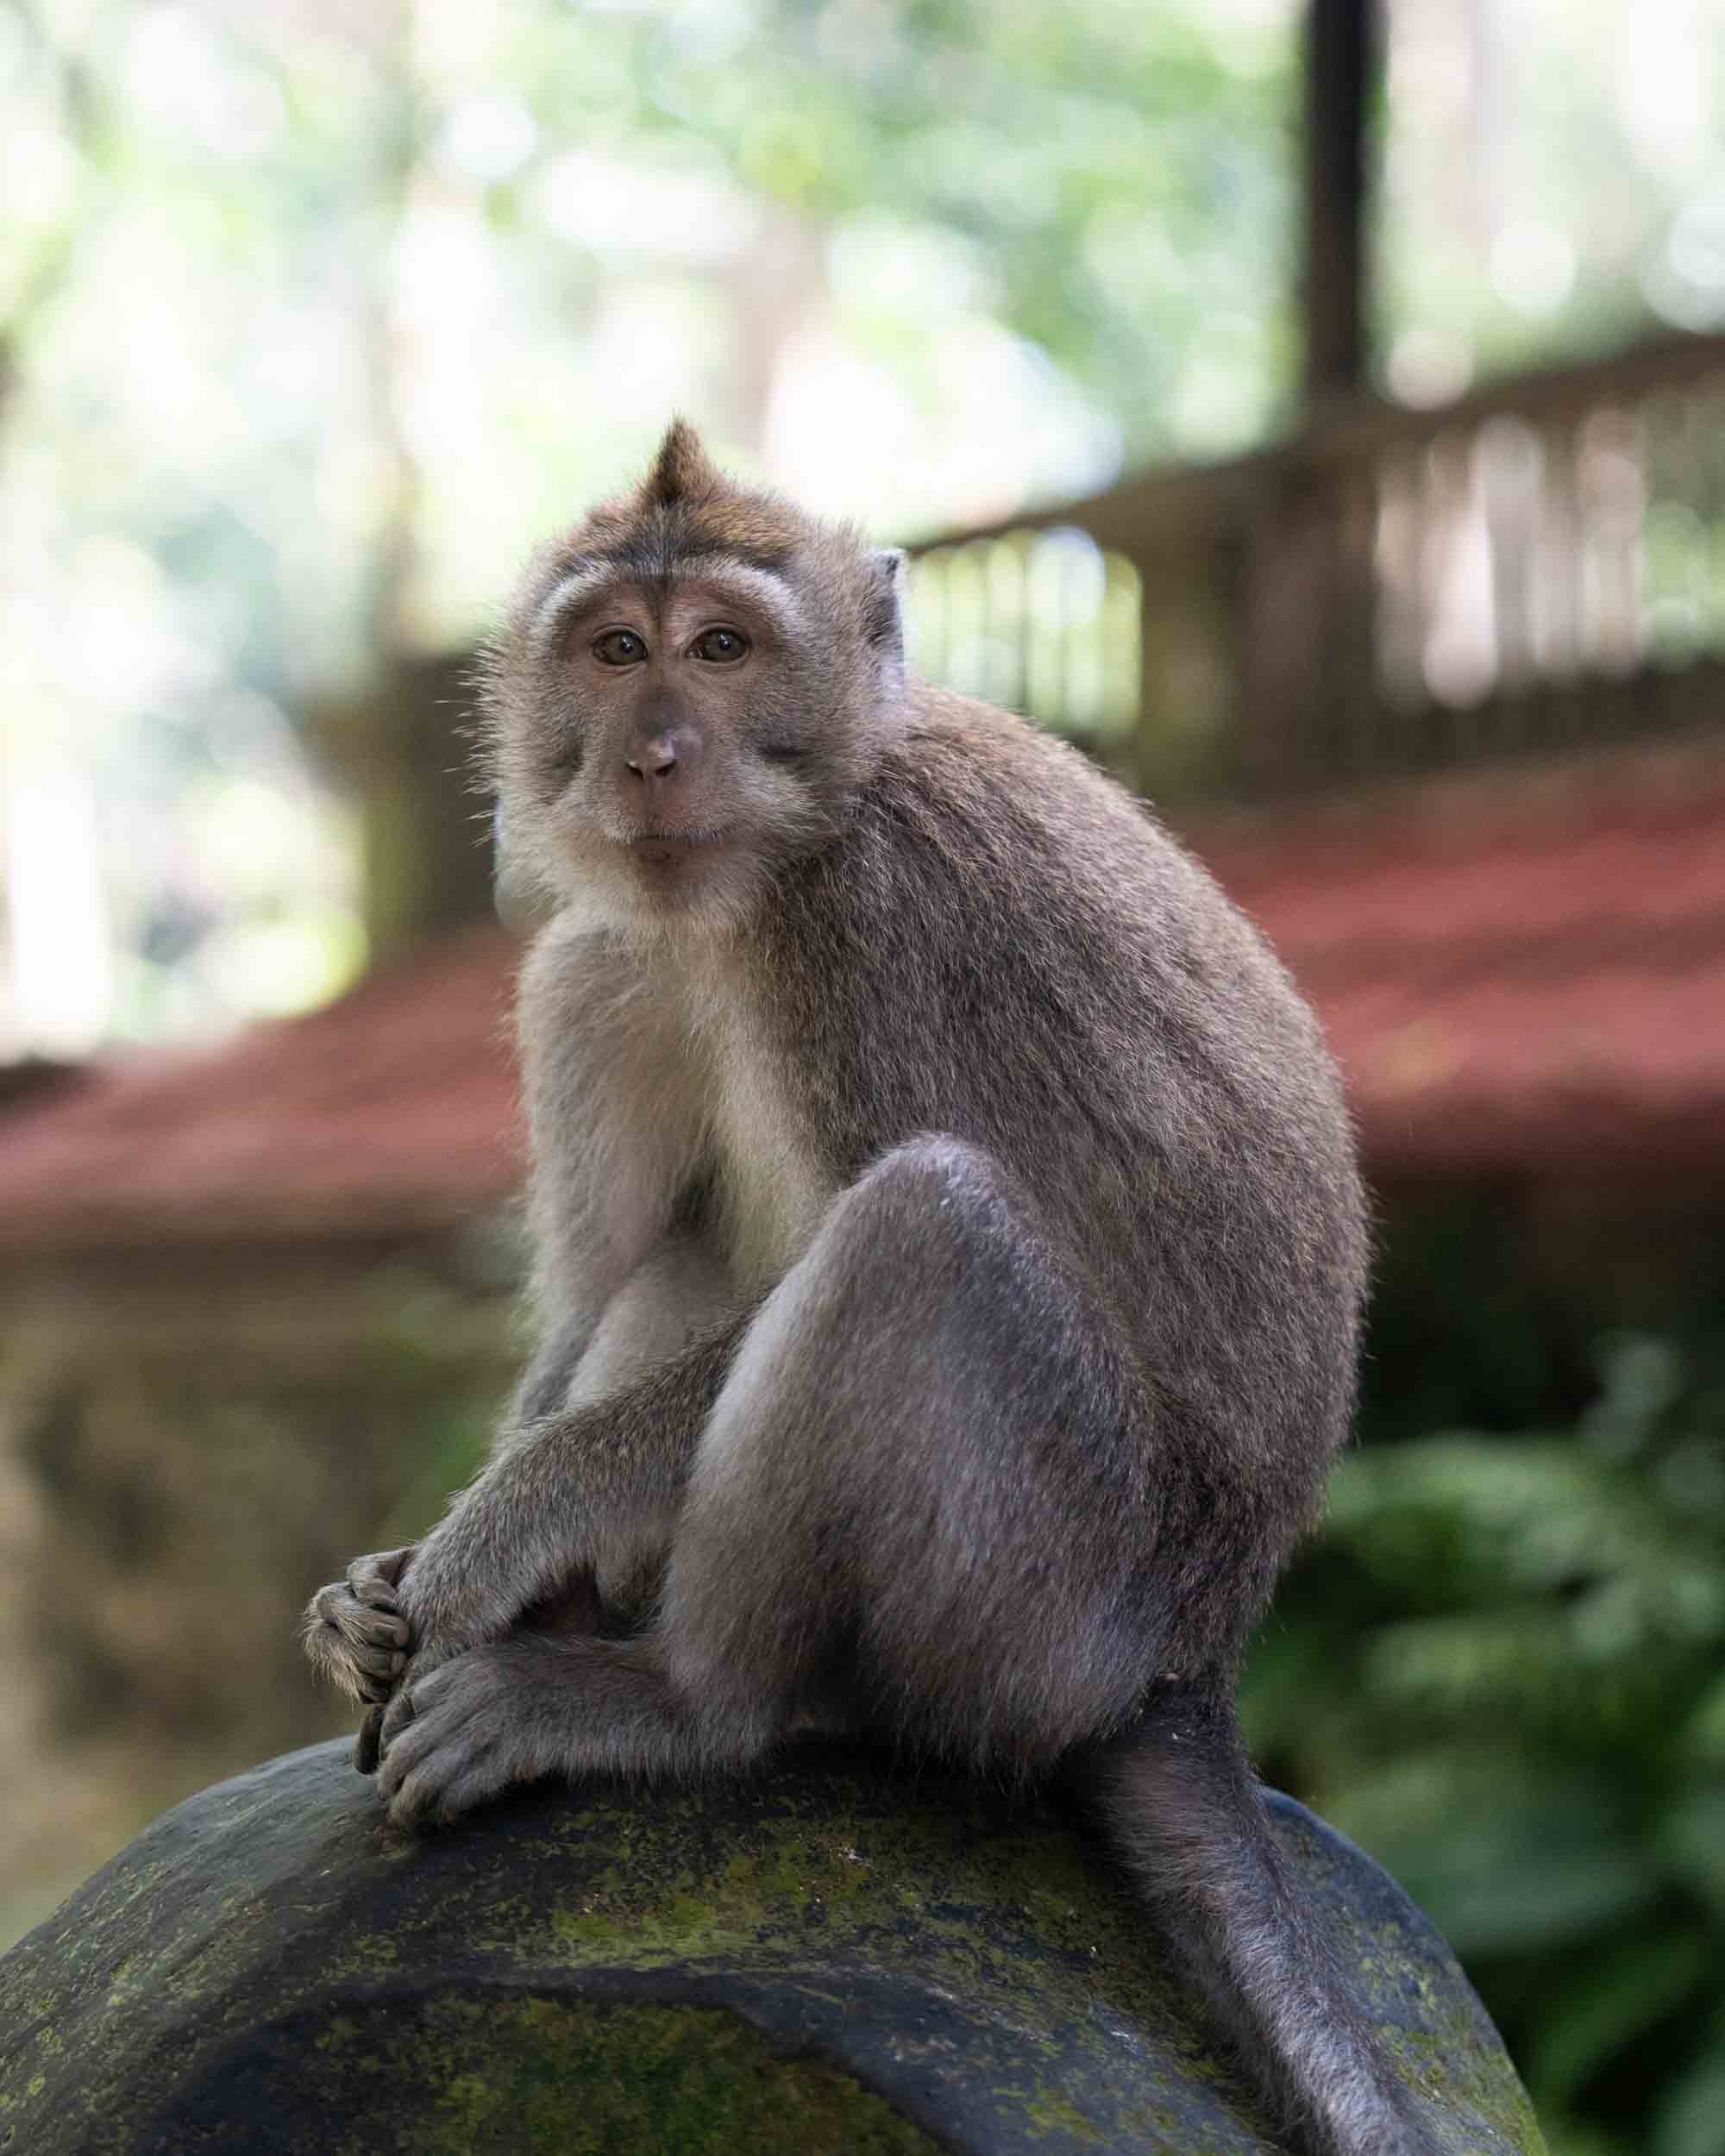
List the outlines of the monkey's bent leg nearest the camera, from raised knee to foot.
{"label": "monkey's bent leg nearest the camera, from raised knee to foot", "polygon": [[979,1151],[865,1175],[748,1328],[651,1639],[513,1636],[403,1684],[382,1789],[446,1818],[522,1774],[735,1766],[854,1649],[878,1714],[1048,1764],[1156,1671],[1123,1358]]}

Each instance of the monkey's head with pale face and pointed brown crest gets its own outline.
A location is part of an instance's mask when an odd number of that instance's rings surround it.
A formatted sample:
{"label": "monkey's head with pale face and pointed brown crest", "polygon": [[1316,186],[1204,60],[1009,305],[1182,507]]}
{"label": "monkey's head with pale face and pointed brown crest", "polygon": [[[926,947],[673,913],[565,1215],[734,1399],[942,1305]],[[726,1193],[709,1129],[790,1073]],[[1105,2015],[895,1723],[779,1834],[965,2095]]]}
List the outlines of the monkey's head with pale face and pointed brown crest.
{"label": "monkey's head with pale face and pointed brown crest", "polygon": [[897,556],[679,440],[541,556],[489,666],[505,845],[617,925],[742,918],[897,705]]}

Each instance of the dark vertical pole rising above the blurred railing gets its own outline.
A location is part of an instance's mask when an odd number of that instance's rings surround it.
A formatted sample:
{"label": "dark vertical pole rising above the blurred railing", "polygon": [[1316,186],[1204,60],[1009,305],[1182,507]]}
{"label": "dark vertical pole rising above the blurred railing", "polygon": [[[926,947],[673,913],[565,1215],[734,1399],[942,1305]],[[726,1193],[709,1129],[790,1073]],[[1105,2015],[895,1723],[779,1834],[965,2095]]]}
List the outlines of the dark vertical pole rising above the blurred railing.
{"label": "dark vertical pole rising above the blurred railing", "polygon": [[1376,58],[1378,0],[1307,0],[1307,405],[1365,382],[1367,103]]}

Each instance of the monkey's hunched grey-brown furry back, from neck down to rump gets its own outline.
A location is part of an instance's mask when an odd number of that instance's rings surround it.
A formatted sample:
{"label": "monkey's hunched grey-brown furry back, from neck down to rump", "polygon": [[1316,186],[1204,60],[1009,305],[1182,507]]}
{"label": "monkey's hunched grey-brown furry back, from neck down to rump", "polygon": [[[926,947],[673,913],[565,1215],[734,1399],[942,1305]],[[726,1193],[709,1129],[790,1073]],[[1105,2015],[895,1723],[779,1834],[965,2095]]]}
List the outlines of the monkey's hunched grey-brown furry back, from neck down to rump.
{"label": "monkey's hunched grey-brown furry back, from neck down to rump", "polygon": [[1179,1427],[1167,1526],[1248,1621],[1348,1432],[1367,1263],[1337,1072],[1261,936],[1076,750],[921,690],[761,957],[837,1177],[944,1132],[1029,1192]]}

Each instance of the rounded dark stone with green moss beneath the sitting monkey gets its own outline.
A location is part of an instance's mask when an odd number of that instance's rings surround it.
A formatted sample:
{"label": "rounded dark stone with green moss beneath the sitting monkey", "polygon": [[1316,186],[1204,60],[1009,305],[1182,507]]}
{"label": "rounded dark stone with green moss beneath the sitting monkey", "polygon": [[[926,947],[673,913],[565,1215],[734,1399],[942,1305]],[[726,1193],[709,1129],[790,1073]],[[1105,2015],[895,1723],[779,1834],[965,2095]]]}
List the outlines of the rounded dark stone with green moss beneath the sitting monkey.
{"label": "rounded dark stone with green moss beneath the sitting monkey", "polygon": [[[1449,2145],[1540,2156],[1430,1923],[1287,1798]],[[800,1746],[401,1839],[345,1744],[179,1805],[0,1960],[4,2156],[1264,2156],[1076,1820]]]}

